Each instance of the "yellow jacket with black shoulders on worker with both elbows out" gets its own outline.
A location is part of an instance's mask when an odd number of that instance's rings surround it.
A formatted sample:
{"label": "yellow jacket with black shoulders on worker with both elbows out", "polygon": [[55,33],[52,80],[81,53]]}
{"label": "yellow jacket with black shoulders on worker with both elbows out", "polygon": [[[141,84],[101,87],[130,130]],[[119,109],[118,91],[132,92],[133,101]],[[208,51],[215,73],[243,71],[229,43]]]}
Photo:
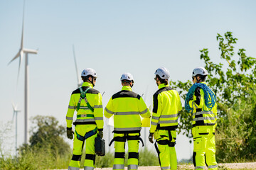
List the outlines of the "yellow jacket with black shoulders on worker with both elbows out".
{"label": "yellow jacket with black shoulders on worker with both elbows out", "polygon": [[114,115],[114,132],[139,132],[142,129],[140,115],[149,118],[150,112],[139,94],[130,86],[114,94],[104,111],[106,118]]}

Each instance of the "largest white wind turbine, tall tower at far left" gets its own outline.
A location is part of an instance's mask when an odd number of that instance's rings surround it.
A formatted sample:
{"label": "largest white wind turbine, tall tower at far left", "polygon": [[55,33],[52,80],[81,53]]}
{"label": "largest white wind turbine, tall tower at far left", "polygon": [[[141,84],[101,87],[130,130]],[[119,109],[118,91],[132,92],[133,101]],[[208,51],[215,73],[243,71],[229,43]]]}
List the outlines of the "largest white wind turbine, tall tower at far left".
{"label": "largest white wind turbine, tall tower at far left", "polygon": [[[21,68],[21,61],[23,58],[23,55],[25,55],[25,86],[24,86],[24,99],[25,99],[25,106],[24,106],[24,111],[25,111],[25,139],[24,143],[28,143],[28,54],[37,54],[38,50],[30,50],[23,48],[23,32],[24,32],[24,11],[25,11],[25,1],[23,5],[23,21],[22,21],[22,33],[21,33],[21,48],[18,50],[18,53],[15,55],[15,57],[11,60],[13,62],[19,57],[19,64],[18,64],[18,75],[19,71]],[[9,64],[11,63],[9,62]]]}

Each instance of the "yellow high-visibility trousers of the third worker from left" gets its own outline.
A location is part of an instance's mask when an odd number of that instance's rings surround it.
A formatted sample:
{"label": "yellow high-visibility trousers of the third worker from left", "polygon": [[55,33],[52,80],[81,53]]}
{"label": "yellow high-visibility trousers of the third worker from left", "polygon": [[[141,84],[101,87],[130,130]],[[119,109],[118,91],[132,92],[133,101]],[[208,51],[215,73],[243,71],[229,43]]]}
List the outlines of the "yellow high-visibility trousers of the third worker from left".
{"label": "yellow high-visibility trousers of the third worker from left", "polygon": [[154,139],[158,147],[155,143],[161,169],[177,169],[177,156],[174,147],[176,144],[176,130],[156,130]]}

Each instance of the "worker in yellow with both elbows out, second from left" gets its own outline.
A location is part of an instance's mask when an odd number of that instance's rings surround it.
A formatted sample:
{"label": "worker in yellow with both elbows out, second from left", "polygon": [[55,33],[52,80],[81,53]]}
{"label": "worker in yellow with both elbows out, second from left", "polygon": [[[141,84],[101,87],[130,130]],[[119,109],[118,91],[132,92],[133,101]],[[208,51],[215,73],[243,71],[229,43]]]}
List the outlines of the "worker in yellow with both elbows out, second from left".
{"label": "worker in yellow with both elbows out, second from left", "polygon": [[142,129],[141,117],[149,118],[150,112],[139,94],[132,91],[132,74],[121,77],[122,91],[114,94],[104,111],[106,118],[114,116],[114,165],[113,169],[124,169],[125,142],[128,142],[128,169],[138,169],[139,140]]}

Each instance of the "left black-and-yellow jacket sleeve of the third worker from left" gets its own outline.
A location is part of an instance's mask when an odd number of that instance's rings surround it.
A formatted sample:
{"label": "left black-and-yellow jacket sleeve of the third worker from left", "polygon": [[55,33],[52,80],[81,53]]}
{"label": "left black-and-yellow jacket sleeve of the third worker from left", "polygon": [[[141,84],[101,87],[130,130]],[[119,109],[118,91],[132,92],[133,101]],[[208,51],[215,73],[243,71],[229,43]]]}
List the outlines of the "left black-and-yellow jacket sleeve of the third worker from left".
{"label": "left black-and-yellow jacket sleeve of the third worker from left", "polygon": [[161,100],[159,100],[160,99],[159,96],[161,96],[161,94],[154,94],[153,96],[153,114],[151,118],[151,126],[150,126],[149,132],[156,131],[156,127],[162,112]]}

